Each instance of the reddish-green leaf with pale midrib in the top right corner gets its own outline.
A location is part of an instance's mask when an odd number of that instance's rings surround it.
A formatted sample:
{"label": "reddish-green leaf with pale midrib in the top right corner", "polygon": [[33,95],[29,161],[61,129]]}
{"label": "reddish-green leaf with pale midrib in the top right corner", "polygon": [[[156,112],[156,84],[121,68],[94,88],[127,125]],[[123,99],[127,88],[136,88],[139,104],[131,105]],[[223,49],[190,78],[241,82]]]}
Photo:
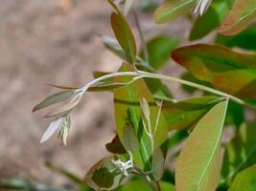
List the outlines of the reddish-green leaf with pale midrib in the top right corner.
{"label": "reddish-green leaf with pale midrib in the top right corner", "polygon": [[255,0],[235,0],[229,15],[221,24],[220,32],[223,35],[234,35],[241,32],[255,16]]}

